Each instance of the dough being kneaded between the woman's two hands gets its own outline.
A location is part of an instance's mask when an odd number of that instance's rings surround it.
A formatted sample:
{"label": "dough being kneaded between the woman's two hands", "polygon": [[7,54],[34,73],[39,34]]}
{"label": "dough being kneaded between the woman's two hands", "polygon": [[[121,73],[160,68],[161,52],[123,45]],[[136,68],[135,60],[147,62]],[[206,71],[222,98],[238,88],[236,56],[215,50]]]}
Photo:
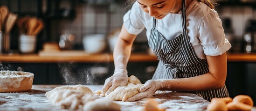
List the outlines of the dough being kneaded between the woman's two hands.
{"label": "dough being kneaded between the woman's two hands", "polygon": [[135,94],[138,94],[140,87],[143,85],[144,84],[141,84],[141,82],[134,75],[131,75],[129,77],[128,84],[126,86],[117,87],[114,91],[107,95],[107,99],[125,101]]}

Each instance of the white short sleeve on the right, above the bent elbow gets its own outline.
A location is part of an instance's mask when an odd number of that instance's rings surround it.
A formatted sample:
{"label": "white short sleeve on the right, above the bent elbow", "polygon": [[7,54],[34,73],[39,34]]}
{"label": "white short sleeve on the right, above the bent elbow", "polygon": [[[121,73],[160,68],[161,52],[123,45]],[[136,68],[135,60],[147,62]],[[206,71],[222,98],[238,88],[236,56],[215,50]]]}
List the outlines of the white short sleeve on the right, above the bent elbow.
{"label": "white short sleeve on the right, above the bent elbow", "polygon": [[231,44],[225,38],[218,13],[209,9],[201,20],[198,34],[205,55],[219,56],[228,51]]}

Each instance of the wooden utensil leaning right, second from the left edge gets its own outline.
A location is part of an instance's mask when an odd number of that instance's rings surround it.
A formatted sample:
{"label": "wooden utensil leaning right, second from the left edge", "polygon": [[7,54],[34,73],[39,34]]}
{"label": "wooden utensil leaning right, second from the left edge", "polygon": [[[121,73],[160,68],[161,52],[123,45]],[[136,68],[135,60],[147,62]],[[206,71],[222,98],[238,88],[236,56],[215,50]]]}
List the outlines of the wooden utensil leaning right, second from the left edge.
{"label": "wooden utensil leaning right, second from the left edge", "polygon": [[6,33],[9,33],[11,31],[11,29],[13,28],[14,24],[15,24],[15,21],[17,19],[17,15],[16,14],[13,14],[13,13],[10,13],[8,15],[8,18],[7,18],[7,24],[5,26],[5,32]]}

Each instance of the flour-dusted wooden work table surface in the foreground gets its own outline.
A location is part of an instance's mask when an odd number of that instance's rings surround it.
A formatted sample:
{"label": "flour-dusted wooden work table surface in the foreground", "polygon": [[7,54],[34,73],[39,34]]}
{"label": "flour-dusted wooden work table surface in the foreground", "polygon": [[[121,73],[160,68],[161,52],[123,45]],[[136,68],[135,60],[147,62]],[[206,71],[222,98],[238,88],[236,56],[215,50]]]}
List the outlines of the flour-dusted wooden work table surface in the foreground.
{"label": "flour-dusted wooden work table surface in the foreground", "polygon": [[[47,91],[61,85],[33,85],[32,90],[24,93],[0,93],[0,111],[67,111],[51,106],[45,97]],[[103,85],[85,85],[91,90],[101,90]],[[105,98],[105,97],[101,97]],[[159,107],[166,111],[205,111],[209,102],[194,93],[173,93],[158,91],[153,97],[160,102]],[[147,99],[136,102],[115,101],[121,111],[142,111]]]}

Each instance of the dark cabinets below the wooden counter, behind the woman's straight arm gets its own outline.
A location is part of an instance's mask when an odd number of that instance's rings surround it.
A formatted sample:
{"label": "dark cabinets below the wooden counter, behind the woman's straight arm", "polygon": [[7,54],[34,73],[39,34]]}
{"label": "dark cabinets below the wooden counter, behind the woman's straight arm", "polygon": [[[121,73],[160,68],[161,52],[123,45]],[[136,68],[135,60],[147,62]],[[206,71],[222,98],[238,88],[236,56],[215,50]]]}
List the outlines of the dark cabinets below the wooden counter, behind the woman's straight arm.
{"label": "dark cabinets below the wooden counter, behind the woman's straight arm", "polygon": [[[157,62],[128,63],[128,75],[145,83],[152,78]],[[8,63],[10,70],[35,74],[33,84],[104,84],[114,73],[114,63]]]}

